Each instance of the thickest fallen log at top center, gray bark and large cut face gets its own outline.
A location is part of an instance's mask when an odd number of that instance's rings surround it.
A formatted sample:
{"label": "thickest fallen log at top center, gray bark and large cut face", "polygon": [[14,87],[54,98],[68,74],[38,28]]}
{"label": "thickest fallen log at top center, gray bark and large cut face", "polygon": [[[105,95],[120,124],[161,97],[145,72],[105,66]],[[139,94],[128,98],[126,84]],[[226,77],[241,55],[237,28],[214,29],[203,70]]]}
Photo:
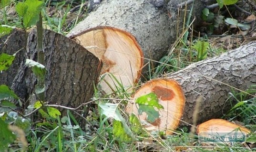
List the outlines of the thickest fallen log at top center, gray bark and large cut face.
{"label": "thickest fallen log at top center, gray bark and large cut face", "polygon": [[[168,1],[167,4],[164,1],[158,3],[155,0],[103,0],[97,10],[89,13],[67,34],[67,37],[73,38],[89,51],[94,52],[97,57],[102,59],[103,65],[113,66],[114,63],[115,67],[107,71],[116,76],[125,88],[134,86],[133,83],[136,84],[141,75],[141,69],[138,68],[142,68],[141,65],[144,62],[142,73],[147,75],[149,66],[153,69],[156,65],[154,61],[163,57],[170,44],[176,40],[176,35],[180,32],[177,30],[177,26],[183,26],[180,22],[183,21],[182,16],[186,11],[179,13],[181,15],[179,17],[177,12],[179,8],[184,7],[185,3],[182,3],[184,0]],[[199,16],[203,8],[203,3],[196,1],[193,15]],[[113,30],[109,30],[110,27]],[[116,31],[122,31],[122,38],[115,36]],[[109,41],[109,38],[114,39]],[[129,38],[133,39],[132,43],[127,43],[125,40]],[[113,46],[112,49],[107,49],[110,45]],[[118,47],[122,45],[123,47]],[[95,47],[98,49],[93,50]],[[120,58],[122,58],[122,62],[118,62]],[[139,62],[134,62],[134,58]],[[148,65],[149,63],[150,65]],[[132,64],[135,64],[135,67]],[[123,70],[123,67],[127,70]],[[105,73],[106,69],[109,68],[102,68],[102,74]],[[120,74],[121,72],[122,74]],[[131,73],[133,74],[131,75]],[[104,92],[110,92],[113,90],[112,88],[115,88],[116,83],[113,83],[113,79],[111,76],[105,77],[102,82]]]}

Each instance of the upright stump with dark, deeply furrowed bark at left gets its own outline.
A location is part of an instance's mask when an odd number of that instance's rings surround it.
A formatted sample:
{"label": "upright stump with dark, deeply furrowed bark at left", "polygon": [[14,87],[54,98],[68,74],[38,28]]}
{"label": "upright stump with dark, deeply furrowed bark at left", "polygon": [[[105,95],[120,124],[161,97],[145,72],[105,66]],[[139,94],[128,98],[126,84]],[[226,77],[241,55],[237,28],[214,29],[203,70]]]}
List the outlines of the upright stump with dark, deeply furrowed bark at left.
{"label": "upright stump with dark, deeply furrowed bark at left", "polygon": [[[28,57],[19,56],[17,59],[21,62],[20,66],[11,67],[15,69],[10,70],[16,71],[7,74],[8,76],[15,75],[11,82],[12,89],[24,101],[30,97],[36,85],[36,77],[25,66],[26,58],[36,60],[37,57],[35,32],[36,30],[32,30],[28,36],[27,53],[24,53]],[[6,44],[14,43],[16,45],[17,41],[25,40],[17,38],[20,37],[8,39]],[[14,44],[12,46],[15,46]],[[18,50],[20,47],[24,47],[23,44],[24,42],[12,49]],[[75,41],[51,30],[44,30],[43,48],[45,52],[44,66],[47,69],[45,77],[46,102],[76,108],[82,103],[90,101],[93,95],[93,86],[98,82],[102,67],[101,61]],[[4,53],[8,51],[5,50]],[[25,52],[24,49],[21,51]],[[3,82],[0,81],[0,83]]]}

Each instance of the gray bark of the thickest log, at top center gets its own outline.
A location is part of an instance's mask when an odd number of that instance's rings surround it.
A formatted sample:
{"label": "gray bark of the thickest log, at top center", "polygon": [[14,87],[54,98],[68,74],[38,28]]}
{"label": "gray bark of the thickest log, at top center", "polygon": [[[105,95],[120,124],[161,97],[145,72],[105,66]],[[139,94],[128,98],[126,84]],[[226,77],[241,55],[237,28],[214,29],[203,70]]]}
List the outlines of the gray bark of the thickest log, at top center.
{"label": "gray bark of the thickest log, at top center", "polygon": [[[176,39],[176,25],[183,21],[183,17],[177,21],[178,4],[183,1],[170,0],[168,5],[158,8],[154,0],[103,0],[99,8],[74,27],[67,37],[73,38],[97,26],[123,29],[138,41],[146,58],[144,64],[149,63],[147,59],[158,61]],[[203,6],[200,0],[196,1],[194,16],[201,14]]]}

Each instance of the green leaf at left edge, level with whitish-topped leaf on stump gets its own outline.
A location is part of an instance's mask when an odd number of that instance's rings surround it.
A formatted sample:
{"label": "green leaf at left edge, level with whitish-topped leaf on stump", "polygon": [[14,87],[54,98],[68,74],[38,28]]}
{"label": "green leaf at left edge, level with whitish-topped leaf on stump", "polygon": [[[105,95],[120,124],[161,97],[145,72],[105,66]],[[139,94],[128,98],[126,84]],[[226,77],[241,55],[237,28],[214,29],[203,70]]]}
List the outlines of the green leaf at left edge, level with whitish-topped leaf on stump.
{"label": "green leaf at left edge, level with whitish-topped leaf on stump", "polygon": [[8,70],[15,56],[2,53],[0,55],[0,71]]}

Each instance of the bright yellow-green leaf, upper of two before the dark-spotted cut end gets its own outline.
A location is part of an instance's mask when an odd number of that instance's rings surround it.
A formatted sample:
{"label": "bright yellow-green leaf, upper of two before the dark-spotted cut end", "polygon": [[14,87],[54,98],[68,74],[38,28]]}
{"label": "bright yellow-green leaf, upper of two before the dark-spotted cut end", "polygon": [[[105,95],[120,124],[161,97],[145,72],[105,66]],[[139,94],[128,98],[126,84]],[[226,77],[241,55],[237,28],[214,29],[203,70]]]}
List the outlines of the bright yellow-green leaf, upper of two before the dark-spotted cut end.
{"label": "bright yellow-green leaf, upper of two before the dark-spotted cut end", "polygon": [[138,97],[135,103],[139,105],[154,106],[158,109],[164,109],[163,105],[158,103],[157,95],[155,95],[154,93],[149,93],[147,95]]}

